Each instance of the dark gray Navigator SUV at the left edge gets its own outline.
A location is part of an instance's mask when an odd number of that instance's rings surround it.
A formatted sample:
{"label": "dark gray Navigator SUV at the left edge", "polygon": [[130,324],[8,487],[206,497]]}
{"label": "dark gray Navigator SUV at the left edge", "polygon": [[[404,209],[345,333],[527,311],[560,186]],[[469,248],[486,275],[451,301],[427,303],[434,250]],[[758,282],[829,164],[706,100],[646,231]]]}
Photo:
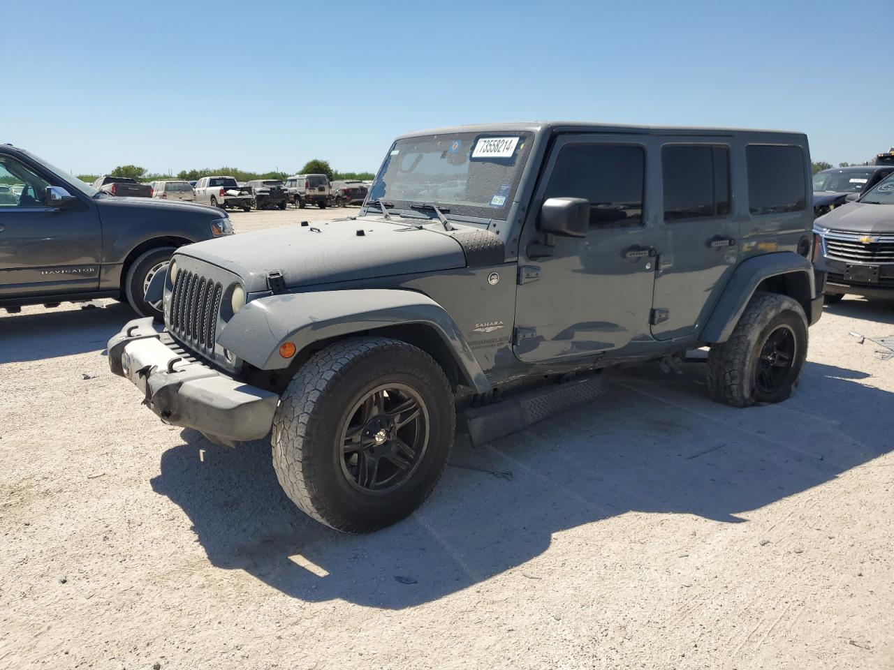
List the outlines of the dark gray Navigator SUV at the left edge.
{"label": "dark gray Navigator SUV at the left edge", "polygon": [[114,197],[12,145],[0,145],[0,307],[127,300],[160,319],[146,289],[177,247],[232,233],[221,210]]}

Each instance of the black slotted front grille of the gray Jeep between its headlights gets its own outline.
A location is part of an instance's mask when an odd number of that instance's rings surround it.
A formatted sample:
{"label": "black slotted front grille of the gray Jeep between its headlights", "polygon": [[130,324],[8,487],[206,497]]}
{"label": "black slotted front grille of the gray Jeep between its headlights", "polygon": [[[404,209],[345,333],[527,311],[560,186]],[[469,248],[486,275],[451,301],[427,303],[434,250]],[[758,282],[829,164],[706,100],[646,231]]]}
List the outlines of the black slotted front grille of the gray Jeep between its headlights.
{"label": "black slotted front grille of the gray Jeep between its headlights", "polygon": [[220,314],[223,285],[181,270],[171,294],[171,331],[207,354],[214,354],[217,338],[217,314]]}

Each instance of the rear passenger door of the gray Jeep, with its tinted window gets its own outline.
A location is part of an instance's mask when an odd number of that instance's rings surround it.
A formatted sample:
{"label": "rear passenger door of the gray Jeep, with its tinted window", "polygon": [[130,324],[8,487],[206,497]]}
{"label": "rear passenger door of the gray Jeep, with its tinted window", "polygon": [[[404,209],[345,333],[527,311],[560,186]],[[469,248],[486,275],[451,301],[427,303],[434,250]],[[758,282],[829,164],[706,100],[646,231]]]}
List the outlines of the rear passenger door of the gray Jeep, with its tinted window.
{"label": "rear passenger door of the gray Jeep, with its tinted window", "polygon": [[730,138],[696,142],[664,138],[664,241],[655,276],[655,339],[696,331],[736,265],[738,221],[730,193],[731,155]]}

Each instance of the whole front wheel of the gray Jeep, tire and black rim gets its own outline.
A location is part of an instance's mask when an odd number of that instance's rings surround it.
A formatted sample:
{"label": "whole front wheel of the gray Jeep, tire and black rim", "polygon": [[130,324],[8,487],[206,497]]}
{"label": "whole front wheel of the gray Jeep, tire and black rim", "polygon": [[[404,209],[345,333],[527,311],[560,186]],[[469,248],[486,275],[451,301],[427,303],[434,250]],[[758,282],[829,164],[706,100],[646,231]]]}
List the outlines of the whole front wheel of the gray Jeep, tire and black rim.
{"label": "whole front wheel of the gray Jeep, tire and black rim", "polygon": [[274,470],[303,512],[343,532],[412,514],[447,464],[450,383],[397,339],[346,339],[301,366],[274,416]]}

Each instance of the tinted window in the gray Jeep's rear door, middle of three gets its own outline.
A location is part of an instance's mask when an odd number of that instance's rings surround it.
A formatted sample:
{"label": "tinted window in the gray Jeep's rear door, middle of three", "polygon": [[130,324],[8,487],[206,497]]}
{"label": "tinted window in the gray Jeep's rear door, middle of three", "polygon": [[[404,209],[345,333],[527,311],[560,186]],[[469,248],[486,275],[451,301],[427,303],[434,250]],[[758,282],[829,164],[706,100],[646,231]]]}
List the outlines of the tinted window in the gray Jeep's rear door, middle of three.
{"label": "tinted window in the gray Jeep's rear door, middle of three", "polygon": [[662,148],[664,221],[730,214],[730,150],[710,145]]}

